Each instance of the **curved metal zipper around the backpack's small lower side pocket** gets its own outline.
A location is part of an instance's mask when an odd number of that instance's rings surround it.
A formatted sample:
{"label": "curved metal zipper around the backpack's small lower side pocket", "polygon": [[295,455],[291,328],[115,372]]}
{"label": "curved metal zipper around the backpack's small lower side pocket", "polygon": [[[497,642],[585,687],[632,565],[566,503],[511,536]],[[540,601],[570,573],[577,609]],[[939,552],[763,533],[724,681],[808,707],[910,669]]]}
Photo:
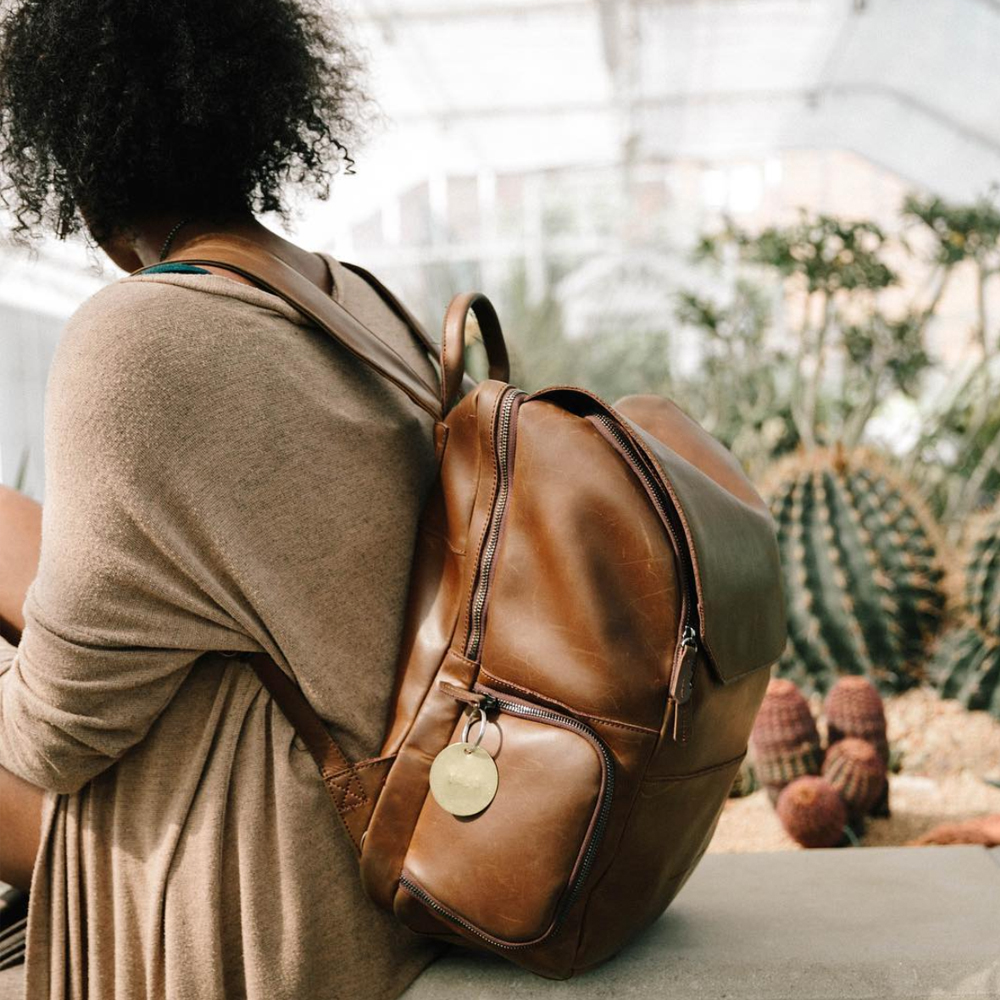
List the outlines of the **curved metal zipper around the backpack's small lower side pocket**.
{"label": "curved metal zipper around the backpack's small lower side pocket", "polygon": [[597,733],[595,733],[589,726],[584,725],[582,722],[579,722],[571,716],[560,715],[558,712],[548,712],[545,709],[536,708],[532,705],[523,705],[517,701],[506,701],[503,698],[497,698],[494,695],[487,694],[486,692],[482,693],[484,695],[484,708],[486,710],[489,708],[497,708],[501,712],[508,712],[512,715],[521,715],[529,718],[546,720],[564,728],[573,729],[579,732],[585,739],[588,739],[591,743],[593,743],[594,746],[596,746],[600,751],[601,757],[604,760],[604,773],[606,776],[604,781],[604,793],[601,798],[601,805],[597,814],[597,822],[594,824],[594,832],[591,834],[590,841],[587,844],[587,849],[584,852],[583,861],[580,864],[580,870],[577,873],[576,878],[573,880],[573,885],[570,887],[569,892],[559,904],[551,929],[542,935],[542,937],[534,941],[502,941],[500,938],[494,937],[492,934],[487,934],[485,931],[476,927],[475,924],[470,923],[464,917],[460,917],[457,913],[454,913],[446,906],[439,903],[433,896],[428,894],[424,889],[410,879],[405,872],[399,876],[399,884],[403,886],[411,895],[416,896],[425,906],[434,910],[435,913],[438,913],[446,919],[452,921],[452,923],[456,923],[459,926],[464,927],[470,934],[474,934],[476,937],[489,942],[495,948],[503,948],[507,951],[514,951],[518,948],[531,948],[545,940],[545,938],[554,934],[558,927],[566,919],[567,914],[579,897],[580,891],[587,880],[587,876],[590,874],[590,870],[594,866],[594,859],[597,856],[598,848],[600,847],[601,840],[604,837],[604,830],[608,823],[608,816],[611,814],[611,801],[614,797],[615,790],[615,760],[614,757],[611,756],[611,752],[604,745],[604,741],[597,735]]}

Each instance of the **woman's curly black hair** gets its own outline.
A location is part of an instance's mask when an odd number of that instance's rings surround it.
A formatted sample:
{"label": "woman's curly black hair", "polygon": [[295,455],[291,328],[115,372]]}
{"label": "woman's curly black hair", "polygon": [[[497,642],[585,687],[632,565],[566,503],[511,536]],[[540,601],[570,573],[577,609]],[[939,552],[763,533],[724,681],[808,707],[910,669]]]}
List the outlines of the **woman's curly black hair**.
{"label": "woman's curly black hair", "polygon": [[358,136],[361,61],[317,0],[17,0],[0,22],[13,235],[98,242],[150,212],[287,219]]}

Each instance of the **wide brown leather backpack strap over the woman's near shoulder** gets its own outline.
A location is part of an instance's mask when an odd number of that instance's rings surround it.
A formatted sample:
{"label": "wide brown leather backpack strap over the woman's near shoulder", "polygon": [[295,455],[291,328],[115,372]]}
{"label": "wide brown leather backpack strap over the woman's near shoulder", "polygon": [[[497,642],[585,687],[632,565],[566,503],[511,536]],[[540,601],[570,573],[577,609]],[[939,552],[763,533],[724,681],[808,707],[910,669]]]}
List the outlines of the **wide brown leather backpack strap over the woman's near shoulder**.
{"label": "wide brown leather backpack strap over the woman's near shoulder", "polygon": [[[324,295],[295,268],[252,241],[228,235],[208,236],[188,245],[182,255],[170,258],[170,261],[214,265],[243,275],[297,309],[359,361],[406,393],[417,406],[435,420],[441,419],[441,402],[436,388],[415,372],[394,347],[366,327],[335,299]],[[141,268],[133,273],[143,274],[147,270],[149,268]],[[410,320],[404,318],[407,325],[410,325]],[[415,320],[412,322],[416,324]],[[419,328],[419,324],[416,326]],[[424,337],[426,334],[420,339],[426,345]]]}

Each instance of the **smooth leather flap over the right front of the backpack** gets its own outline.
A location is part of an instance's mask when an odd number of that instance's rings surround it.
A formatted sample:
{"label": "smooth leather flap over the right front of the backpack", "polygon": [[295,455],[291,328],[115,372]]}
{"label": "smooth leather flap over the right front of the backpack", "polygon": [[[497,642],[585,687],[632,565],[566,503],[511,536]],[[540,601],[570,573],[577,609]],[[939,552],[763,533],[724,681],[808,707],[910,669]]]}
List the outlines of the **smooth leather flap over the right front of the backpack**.
{"label": "smooth leather flap over the right front of the backpack", "polygon": [[785,646],[774,522],[739,462],[669,400],[628,396],[614,410],[655,461],[694,563],[702,642],[723,682],[770,666]]}

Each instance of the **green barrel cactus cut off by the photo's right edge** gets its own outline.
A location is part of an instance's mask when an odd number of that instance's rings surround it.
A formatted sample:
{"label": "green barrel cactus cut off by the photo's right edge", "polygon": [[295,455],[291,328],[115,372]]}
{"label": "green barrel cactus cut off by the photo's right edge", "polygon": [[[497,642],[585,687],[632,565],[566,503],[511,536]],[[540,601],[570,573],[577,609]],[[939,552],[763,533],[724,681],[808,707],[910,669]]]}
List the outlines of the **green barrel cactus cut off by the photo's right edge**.
{"label": "green barrel cactus cut off by the photo's right edge", "polygon": [[961,624],[938,644],[932,671],[943,697],[1000,718],[1000,506],[973,533]]}

